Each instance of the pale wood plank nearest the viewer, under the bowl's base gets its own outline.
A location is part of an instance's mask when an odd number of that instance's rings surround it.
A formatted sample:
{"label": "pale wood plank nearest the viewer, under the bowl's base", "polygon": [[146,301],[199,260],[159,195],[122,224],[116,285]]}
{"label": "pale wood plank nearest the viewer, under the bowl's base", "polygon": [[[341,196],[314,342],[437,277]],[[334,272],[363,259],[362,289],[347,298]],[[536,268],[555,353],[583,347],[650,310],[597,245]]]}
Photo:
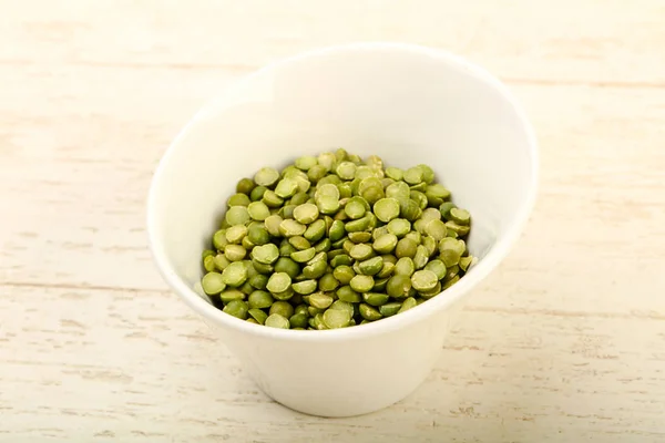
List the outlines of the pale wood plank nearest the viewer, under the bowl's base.
{"label": "pale wood plank nearest the viewer, under the bowl's base", "polygon": [[0,328],[0,411],[11,418],[0,441],[665,437],[663,319],[467,311],[416,393],[326,420],[267,399],[166,292],[4,286],[0,295],[0,311],[13,312]]}

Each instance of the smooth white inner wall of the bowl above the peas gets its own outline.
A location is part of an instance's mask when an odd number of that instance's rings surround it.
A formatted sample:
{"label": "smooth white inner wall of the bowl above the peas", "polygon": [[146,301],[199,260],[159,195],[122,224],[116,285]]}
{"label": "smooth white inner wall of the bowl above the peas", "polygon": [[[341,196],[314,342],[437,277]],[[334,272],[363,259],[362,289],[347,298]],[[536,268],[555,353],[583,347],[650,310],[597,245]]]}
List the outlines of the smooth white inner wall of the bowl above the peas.
{"label": "smooth white inner wall of the bowl above the peas", "polygon": [[469,248],[481,259],[514,230],[535,186],[528,124],[482,71],[424,49],[318,51],[241,82],[171,146],[149,207],[166,272],[200,280],[201,251],[239,178],[340,146],[386,165],[430,165],[471,212]]}

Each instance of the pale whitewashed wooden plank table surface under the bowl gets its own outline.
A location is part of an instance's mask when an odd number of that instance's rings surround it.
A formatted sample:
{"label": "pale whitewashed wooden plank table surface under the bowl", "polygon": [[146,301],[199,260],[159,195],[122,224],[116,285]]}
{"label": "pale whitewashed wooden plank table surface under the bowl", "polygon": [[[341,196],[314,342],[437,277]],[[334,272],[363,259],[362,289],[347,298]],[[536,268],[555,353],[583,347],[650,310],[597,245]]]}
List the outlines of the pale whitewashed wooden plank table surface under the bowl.
{"label": "pale whitewashed wooden plank table surface under the bowl", "polygon": [[[663,1],[0,11],[1,442],[664,441]],[[168,291],[144,204],[160,156],[211,94],[357,40],[447,48],[499,75],[535,125],[542,181],[522,240],[424,385],[324,420],[267,399]]]}

